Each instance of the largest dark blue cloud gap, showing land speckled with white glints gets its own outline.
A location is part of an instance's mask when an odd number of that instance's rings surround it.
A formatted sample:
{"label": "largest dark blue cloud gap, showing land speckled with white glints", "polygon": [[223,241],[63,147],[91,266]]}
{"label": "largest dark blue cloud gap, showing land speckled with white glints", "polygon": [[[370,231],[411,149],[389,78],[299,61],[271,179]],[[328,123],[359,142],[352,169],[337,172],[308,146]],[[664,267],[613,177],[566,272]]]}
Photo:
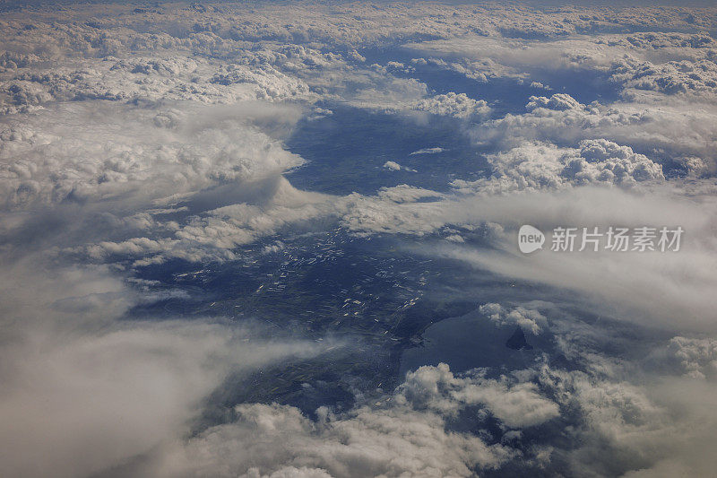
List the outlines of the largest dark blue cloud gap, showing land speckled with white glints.
{"label": "largest dark blue cloud gap, showing land speckled with white glints", "polygon": [[[271,248],[277,239],[281,246]],[[239,403],[290,404],[314,418],[323,405],[349,410],[357,392],[381,396],[402,382],[401,357],[423,346],[428,327],[479,305],[477,295],[463,291],[470,269],[454,259],[417,255],[421,244],[393,235],[358,238],[335,229],[265,239],[238,248],[241,258],[227,263],[174,260],[144,266],[137,276],[158,281],[152,292],[160,299],[135,307],[127,319],[225,317],[258,324],[263,339],[348,343],[314,359],[230,376],[207,399],[194,424],[197,432],[225,422]],[[472,291],[505,287],[491,274],[471,283]],[[162,299],[162,291],[186,295]],[[489,350],[478,340],[477,347]],[[492,364],[476,360],[466,368]]]}

